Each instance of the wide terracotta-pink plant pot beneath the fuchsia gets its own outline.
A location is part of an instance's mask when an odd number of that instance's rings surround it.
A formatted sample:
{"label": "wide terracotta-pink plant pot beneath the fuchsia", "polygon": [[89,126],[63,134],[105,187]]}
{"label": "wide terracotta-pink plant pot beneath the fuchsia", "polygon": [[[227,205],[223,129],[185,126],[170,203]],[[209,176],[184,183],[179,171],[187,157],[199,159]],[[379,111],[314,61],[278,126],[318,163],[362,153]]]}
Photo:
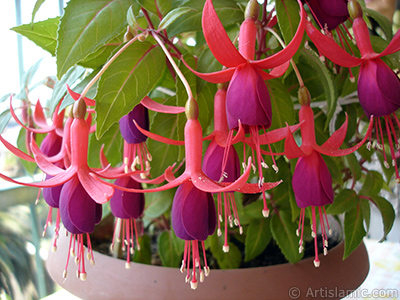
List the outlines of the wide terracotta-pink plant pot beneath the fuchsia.
{"label": "wide terracotta-pink plant pot beneath the fuchsia", "polygon": [[61,234],[57,252],[49,254],[47,269],[61,287],[85,300],[90,299],[340,299],[355,290],[369,271],[368,254],[362,243],[346,260],[344,244],[321,256],[315,268],[313,258],[297,264],[269,267],[211,270],[197,290],[185,283],[178,268],[132,263],[94,253],[96,265],[87,263],[87,279],[75,276],[73,260],[69,275],[62,277],[68,238]]}

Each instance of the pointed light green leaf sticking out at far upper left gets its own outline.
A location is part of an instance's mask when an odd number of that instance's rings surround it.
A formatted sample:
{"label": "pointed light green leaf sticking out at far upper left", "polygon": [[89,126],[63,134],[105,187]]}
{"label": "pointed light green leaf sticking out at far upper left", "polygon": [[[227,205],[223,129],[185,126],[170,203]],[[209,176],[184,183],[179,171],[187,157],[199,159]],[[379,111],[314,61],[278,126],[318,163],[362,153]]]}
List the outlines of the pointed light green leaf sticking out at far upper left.
{"label": "pointed light green leaf sticking out at far upper left", "polygon": [[52,56],[56,54],[57,29],[60,17],[47,19],[33,24],[24,24],[11,30],[25,36]]}

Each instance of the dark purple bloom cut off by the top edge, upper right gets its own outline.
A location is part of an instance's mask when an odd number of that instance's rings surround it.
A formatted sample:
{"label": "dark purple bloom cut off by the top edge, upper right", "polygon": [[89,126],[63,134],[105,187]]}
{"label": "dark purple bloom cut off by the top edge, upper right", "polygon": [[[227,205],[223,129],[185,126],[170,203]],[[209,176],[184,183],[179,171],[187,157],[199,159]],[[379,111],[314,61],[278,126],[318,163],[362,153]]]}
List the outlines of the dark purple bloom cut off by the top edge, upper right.
{"label": "dark purple bloom cut off by the top edge, upper right", "polygon": [[322,29],[334,30],[349,18],[348,0],[301,0],[307,3],[315,21]]}

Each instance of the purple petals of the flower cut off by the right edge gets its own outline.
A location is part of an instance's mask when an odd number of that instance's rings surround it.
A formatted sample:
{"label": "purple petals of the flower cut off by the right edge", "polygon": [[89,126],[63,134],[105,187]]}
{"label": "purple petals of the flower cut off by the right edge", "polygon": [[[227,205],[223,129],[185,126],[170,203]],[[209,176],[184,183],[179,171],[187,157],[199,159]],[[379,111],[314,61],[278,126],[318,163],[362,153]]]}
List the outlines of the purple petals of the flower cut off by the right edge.
{"label": "purple petals of the flower cut off by the right edge", "polygon": [[367,60],[360,68],[358,97],[368,116],[390,115],[400,107],[400,80],[381,59]]}

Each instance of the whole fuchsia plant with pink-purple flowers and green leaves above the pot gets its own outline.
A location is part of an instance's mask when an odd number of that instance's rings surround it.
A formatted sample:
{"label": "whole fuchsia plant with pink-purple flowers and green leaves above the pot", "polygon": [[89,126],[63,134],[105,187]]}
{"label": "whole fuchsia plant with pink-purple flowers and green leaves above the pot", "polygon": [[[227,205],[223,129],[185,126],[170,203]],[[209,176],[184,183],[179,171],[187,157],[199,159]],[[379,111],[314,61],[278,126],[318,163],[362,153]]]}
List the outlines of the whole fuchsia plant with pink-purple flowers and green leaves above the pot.
{"label": "whole fuchsia plant with pink-purple flowers and green leaves above the pot", "polygon": [[46,109],[25,106],[20,120],[10,101],[27,150],[1,141],[46,174],[17,183],[43,189],[54,250],[60,221],[68,232],[64,282],[72,256],[77,277],[92,276],[90,234],[109,211],[127,268],[151,262],[152,234],[153,261],[180,265],[198,290],[212,268],[260,266],[273,246],[296,269],[311,244],[307,264],[325,268],[336,222],[336,255],[366,259],[371,204],[385,238],[394,210],[380,192],[399,180],[399,35],[362,1],[303,2],[71,0],[61,18],[14,28],[57,58]]}

